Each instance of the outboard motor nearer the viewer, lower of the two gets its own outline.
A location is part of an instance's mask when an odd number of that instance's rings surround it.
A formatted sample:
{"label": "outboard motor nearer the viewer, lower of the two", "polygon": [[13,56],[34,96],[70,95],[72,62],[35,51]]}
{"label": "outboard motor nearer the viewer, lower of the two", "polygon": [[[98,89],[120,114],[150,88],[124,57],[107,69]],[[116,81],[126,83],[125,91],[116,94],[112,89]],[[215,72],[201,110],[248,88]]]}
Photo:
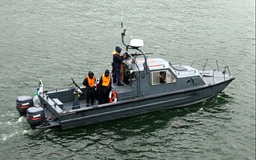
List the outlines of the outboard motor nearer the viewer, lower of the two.
{"label": "outboard motor nearer the viewer, lower of the two", "polygon": [[30,127],[34,130],[46,119],[46,114],[41,106],[30,107],[26,111],[26,121],[30,123]]}

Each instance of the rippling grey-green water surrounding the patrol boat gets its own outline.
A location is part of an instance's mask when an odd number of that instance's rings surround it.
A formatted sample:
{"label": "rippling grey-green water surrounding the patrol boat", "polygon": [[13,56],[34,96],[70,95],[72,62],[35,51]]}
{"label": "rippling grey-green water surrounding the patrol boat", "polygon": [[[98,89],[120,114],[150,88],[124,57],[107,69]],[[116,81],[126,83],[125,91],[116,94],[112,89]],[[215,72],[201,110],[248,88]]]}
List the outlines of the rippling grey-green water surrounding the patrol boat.
{"label": "rippling grey-green water surrounding the patrol boat", "polygon": [[[15,100],[100,76],[127,35],[172,63],[216,58],[236,80],[186,108],[65,131],[31,131]],[[37,1],[0,3],[1,159],[255,159],[255,2]]]}

